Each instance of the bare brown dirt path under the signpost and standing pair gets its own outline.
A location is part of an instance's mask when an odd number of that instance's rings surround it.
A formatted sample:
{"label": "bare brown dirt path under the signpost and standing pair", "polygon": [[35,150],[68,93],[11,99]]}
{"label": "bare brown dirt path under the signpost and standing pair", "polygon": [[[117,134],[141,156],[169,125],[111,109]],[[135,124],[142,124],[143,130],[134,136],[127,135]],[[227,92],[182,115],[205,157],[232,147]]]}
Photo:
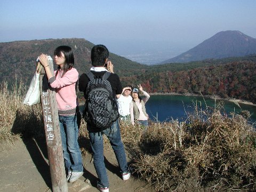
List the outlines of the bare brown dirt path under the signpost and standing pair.
{"label": "bare brown dirt path under the signpost and standing pair", "polygon": [[[105,151],[106,167],[110,182],[109,191],[154,191],[144,182],[135,177],[123,181],[119,177],[117,162],[112,149]],[[68,183],[69,191],[77,191],[78,185],[83,185],[85,192],[96,192],[97,174],[91,155],[83,156],[84,174],[79,181]],[[0,191],[28,191],[50,192],[51,178],[47,161],[45,143],[35,140],[18,140],[13,146],[4,148],[0,153]],[[84,182],[87,179],[89,183]],[[81,189],[81,188],[80,188]],[[79,191],[79,190],[78,190]]]}

